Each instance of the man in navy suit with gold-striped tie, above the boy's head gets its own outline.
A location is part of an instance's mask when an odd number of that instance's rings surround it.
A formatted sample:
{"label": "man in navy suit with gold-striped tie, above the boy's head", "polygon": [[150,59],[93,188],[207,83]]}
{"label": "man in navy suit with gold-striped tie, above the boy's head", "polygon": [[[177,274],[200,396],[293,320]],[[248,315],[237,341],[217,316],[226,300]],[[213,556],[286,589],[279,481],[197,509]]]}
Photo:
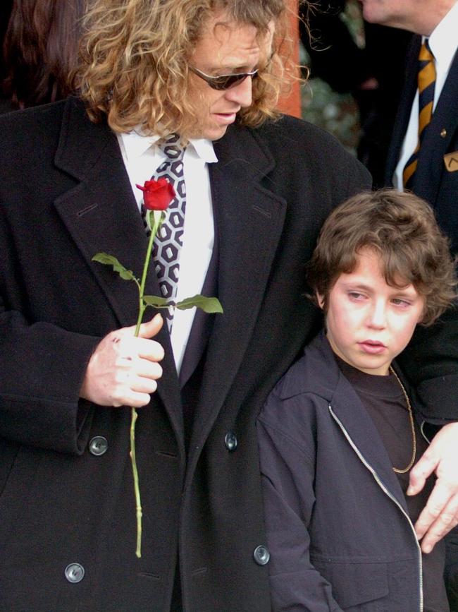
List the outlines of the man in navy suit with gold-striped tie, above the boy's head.
{"label": "man in navy suit with gold-striped tie, above the boy's head", "polygon": [[419,11],[414,0],[362,0],[364,18],[413,32],[407,57],[404,90],[400,98],[385,182],[404,189],[403,171],[418,143],[419,50],[428,39],[435,64],[433,115],[426,126],[418,164],[408,188],[433,206],[442,229],[458,251],[458,3],[427,0]]}

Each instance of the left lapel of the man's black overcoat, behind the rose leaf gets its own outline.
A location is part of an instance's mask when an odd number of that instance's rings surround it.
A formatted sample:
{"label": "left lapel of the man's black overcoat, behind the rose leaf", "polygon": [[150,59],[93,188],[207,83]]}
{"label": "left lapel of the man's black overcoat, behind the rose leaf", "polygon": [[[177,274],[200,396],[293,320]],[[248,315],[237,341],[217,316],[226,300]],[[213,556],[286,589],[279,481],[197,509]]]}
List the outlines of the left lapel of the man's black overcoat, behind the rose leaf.
{"label": "left lapel of the man's black overcoat, behind the rose leaf", "polygon": [[[116,136],[105,123],[92,124],[82,104],[71,98],[63,116],[55,163],[79,181],[75,188],[57,198],[56,210],[96,277],[119,325],[135,325],[138,313],[136,285],[122,280],[111,266],[93,262],[92,257],[99,252],[109,253],[141,277],[147,251],[142,218]],[[151,265],[147,294],[160,295]],[[147,313],[147,316],[152,314]],[[161,364],[163,376],[158,392],[182,440],[178,377],[166,325],[155,340],[162,344],[166,354]]]}

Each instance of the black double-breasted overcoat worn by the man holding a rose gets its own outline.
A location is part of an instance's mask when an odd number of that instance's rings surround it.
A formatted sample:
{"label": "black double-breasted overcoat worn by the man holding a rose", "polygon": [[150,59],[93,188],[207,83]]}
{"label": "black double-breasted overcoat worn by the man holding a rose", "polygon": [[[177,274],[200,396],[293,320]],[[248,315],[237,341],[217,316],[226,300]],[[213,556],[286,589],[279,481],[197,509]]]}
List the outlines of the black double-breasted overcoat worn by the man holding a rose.
{"label": "black double-breasted overcoat worn by the man holding a rose", "polygon": [[[165,612],[179,548],[186,611],[268,611],[254,422],[320,323],[303,295],[318,229],[368,174],[292,118],[215,143],[224,314],[188,456],[167,331],[158,337],[163,378],[137,421],[137,559],[130,411],[78,397],[94,346],[137,316],[136,287],[91,261],[105,251],[142,270],[147,239],[116,136],[74,99],[4,116],[0,133],[0,609]],[[66,577],[72,564],[80,582]]]}

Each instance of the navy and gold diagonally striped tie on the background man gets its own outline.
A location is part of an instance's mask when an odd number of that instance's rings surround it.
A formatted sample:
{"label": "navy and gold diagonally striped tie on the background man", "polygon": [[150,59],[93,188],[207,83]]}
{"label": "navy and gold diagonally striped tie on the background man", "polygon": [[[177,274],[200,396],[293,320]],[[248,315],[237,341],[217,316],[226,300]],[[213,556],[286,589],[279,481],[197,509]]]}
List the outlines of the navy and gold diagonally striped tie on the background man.
{"label": "navy and gold diagonally striped tie on the background man", "polygon": [[431,49],[428,45],[428,40],[421,45],[419,54],[419,74],[418,74],[418,85],[419,85],[419,139],[416,144],[416,148],[412,155],[407,160],[407,164],[404,166],[404,172],[402,173],[402,179],[404,187],[409,188],[412,184],[413,176],[416,171],[416,165],[418,164],[419,150],[421,142],[424,138],[426,127],[431,121],[433,116],[433,102],[434,102],[434,86],[435,86],[435,66],[434,56],[431,53]]}

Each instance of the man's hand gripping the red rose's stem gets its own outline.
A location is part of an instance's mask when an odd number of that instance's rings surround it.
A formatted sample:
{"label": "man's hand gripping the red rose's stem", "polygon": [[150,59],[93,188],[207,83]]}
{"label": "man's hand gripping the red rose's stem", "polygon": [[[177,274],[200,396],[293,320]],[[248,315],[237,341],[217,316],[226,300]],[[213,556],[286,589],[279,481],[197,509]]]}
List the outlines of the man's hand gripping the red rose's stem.
{"label": "man's hand gripping the red rose's stem", "polygon": [[163,348],[151,340],[163,324],[160,314],[142,323],[138,337],[135,325],[106,335],[89,359],[80,397],[100,406],[131,406],[149,404],[150,394],[162,376],[159,361]]}

